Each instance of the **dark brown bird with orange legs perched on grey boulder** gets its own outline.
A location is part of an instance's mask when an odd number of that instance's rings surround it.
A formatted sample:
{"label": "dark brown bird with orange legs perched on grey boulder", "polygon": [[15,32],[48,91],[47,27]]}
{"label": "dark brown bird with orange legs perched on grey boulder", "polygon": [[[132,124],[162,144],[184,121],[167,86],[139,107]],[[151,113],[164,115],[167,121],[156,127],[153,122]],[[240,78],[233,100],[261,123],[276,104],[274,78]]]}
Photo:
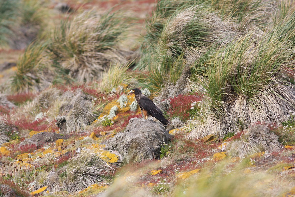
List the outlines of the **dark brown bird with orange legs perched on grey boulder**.
{"label": "dark brown bird with orange legs perched on grey boulder", "polygon": [[130,91],[130,93],[135,94],[135,99],[145,116],[145,119],[148,118],[149,115],[157,118],[161,123],[164,125],[168,124],[168,120],[164,118],[163,112],[154,104],[152,100],[150,100],[148,97],[143,95],[140,91],[140,89],[135,88]]}

